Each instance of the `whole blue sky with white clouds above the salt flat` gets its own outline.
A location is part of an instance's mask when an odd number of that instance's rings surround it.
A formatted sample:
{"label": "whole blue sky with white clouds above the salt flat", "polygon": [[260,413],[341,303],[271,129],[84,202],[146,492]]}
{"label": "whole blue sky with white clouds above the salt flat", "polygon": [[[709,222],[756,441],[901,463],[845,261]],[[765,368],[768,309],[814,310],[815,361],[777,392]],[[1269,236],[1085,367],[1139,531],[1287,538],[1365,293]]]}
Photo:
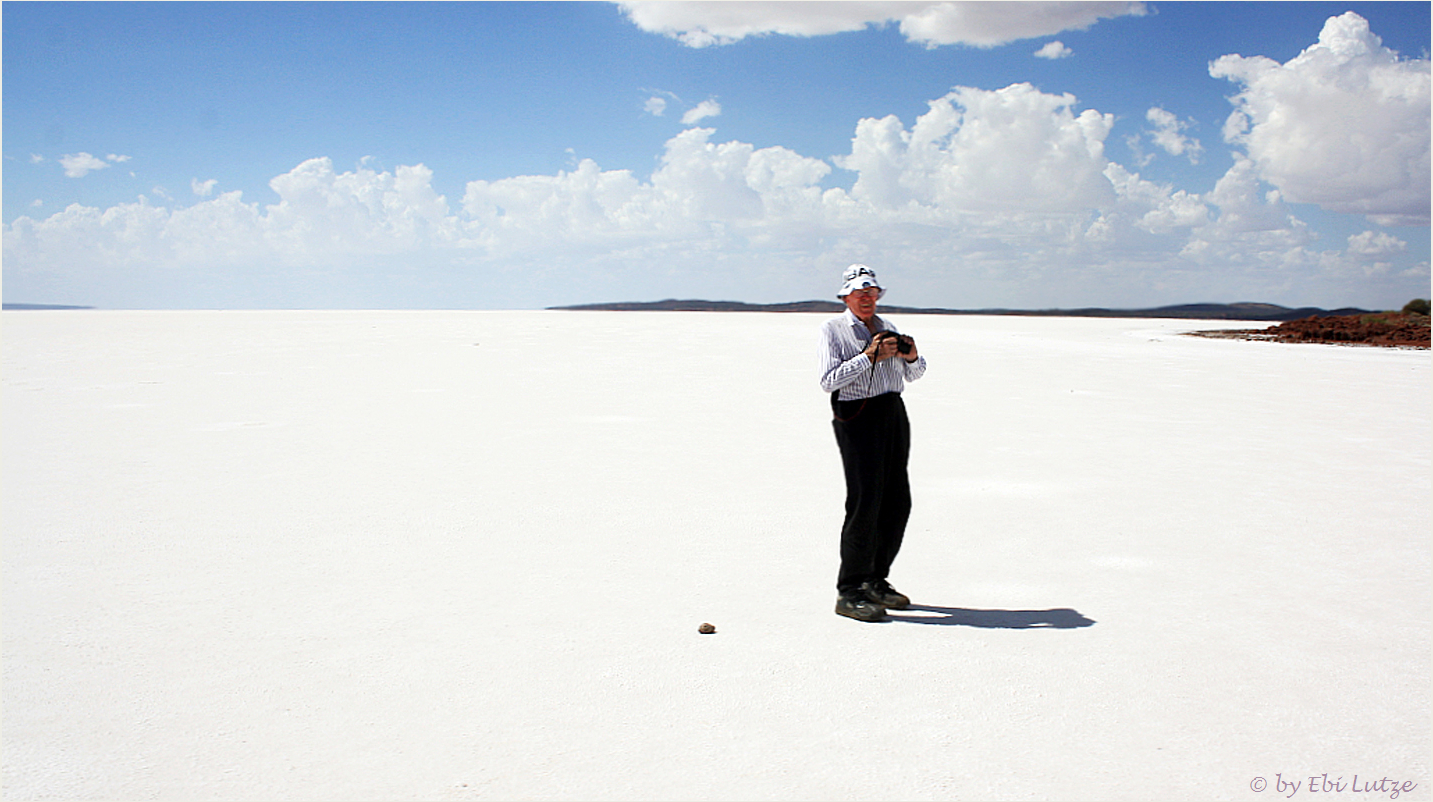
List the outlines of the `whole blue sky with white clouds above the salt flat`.
{"label": "whole blue sky with white clouds above the salt flat", "polygon": [[1429,10],[9,1],[4,299],[1396,308]]}

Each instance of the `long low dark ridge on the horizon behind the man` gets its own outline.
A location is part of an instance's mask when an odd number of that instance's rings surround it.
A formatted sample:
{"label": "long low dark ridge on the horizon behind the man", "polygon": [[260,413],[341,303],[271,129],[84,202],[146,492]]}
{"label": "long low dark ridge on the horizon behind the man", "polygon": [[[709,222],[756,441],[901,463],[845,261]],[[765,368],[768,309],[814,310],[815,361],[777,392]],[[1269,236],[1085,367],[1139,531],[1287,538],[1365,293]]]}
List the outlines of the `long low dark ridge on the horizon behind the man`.
{"label": "long low dark ridge on the horizon behind the man", "polygon": [[[580,304],[549,306],[549,309],[602,312],[827,312],[835,314],[845,305],[838,301],[794,301],[790,304],[742,304],[741,301],[632,301],[622,304]],[[897,315],[1023,315],[1040,318],[1185,318],[1201,321],[1298,321],[1337,315],[1364,315],[1369,309],[1320,309],[1301,306],[1290,309],[1277,304],[1184,304],[1152,309],[940,309],[926,306],[881,306],[881,312]]]}

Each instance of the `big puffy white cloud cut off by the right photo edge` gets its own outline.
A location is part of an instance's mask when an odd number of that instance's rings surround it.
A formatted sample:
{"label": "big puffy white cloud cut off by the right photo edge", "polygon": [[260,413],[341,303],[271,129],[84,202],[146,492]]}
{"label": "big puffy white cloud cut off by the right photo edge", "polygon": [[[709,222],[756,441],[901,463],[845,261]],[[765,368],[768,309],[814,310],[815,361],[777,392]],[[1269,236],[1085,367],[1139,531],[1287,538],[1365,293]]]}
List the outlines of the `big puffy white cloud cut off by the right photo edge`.
{"label": "big puffy white cloud cut off by the right photo edge", "polygon": [[1427,59],[1399,57],[1347,11],[1284,64],[1231,54],[1209,74],[1242,86],[1224,136],[1287,200],[1379,225],[1427,225]]}

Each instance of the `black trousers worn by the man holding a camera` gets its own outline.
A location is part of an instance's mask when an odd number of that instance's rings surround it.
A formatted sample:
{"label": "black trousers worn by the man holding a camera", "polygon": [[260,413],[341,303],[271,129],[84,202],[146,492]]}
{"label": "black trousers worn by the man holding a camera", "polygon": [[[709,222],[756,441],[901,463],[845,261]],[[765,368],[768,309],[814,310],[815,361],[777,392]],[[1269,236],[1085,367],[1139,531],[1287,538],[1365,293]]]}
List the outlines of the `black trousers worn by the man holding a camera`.
{"label": "black trousers worn by the man holding a camera", "polygon": [[835,443],[845,468],[845,523],[837,590],[886,579],[910,517],[910,420],[900,392],[864,401],[831,397]]}

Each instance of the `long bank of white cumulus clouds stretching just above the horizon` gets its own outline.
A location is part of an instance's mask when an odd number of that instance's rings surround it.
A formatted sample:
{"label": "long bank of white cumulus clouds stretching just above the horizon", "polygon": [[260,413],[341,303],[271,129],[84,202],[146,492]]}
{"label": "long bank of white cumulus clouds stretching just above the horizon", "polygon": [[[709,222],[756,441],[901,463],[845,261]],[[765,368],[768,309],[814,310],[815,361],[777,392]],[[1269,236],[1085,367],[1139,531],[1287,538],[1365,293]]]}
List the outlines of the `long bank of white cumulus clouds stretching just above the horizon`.
{"label": "long bank of white cumulus clouds stretching just above the horizon", "polygon": [[[1179,133],[1158,112],[1154,127]],[[451,205],[424,165],[375,170],[363,159],[338,172],[315,158],[269,182],[277,203],[195,179],[188,206],[155,188],[165,205],[20,216],[0,226],[7,291],[109,286],[133,304],[178,286],[172,305],[201,286],[277,304],[788,301],[828,292],[840,266],[866,261],[901,265],[913,299],[921,286],[947,294],[930,305],[1154,305],[1205,298],[1208,286],[1287,302],[1320,276],[1338,286],[1426,276],[1426,262],[1410,266],[1413,249],[1381,232],[1315,249],[1285,192],[1241,152],[1209,192],[1148,180],[1106,156],[1113,125],[1027,83],[957,86],[914,120],[853,122],[850,152],[830,160],[692,126],[666,140],[649,176],[569,152],[569,169],[470,180]],[[854,173],[850,189],[823,186],[833,166]],[[987,294],[954,298],[950,286]],[[400,299],[418,288],[428,295]],[[92,302],[125,302],[95,292]]]}

